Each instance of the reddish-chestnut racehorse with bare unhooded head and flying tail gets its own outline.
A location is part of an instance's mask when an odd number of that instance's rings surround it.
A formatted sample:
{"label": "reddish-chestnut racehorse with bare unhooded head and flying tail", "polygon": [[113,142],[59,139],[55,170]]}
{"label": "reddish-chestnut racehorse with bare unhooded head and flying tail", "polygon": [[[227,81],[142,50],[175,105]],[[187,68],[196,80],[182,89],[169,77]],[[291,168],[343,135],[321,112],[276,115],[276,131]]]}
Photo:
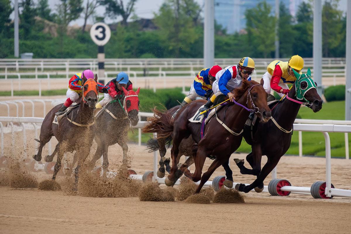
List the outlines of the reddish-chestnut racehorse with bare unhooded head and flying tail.
{"label": "reddish-chestnut racehorse with bare unhooded head and flying tail", "polygon": [[[192,135],[198,145],[193,146],[193,158],[195,162],[195,172],[192,174],[183,163],[180,169],[184,174],[197,182],[201,179],[195,193],[199,193],[204,183],[210,178],[212,173],[220,166],[229,164],[230,155],[238,149],[241,143],[241,132],[250,114],[255,112],[260,120],[267,122],[271,116],[271,111],[267,106],[267,93],[264,91],[263,82],[243,80],[241,86],[232,91],[237,100],[229,102],[227,106],[216,113],[216,118],[212,118],[205,125],[205,133],[201,139],[201,125],[189,122],[198,109],[204,105],[205,101],[197,100],[187,104],[173,119],[169,113],[160,116],[163,125],[158,123],[150,125],[158,129],[159,138],[166,138],[173,133],[173,146],[171,149],[172,167],[171,173],[165,179],[167,186],[172,186],[176,182],[177,156],[179,153],[179,143],[184,138]],[[230,121],[225,121],[225,117]],[[227,122],[227,123],[225,123]],[[207,156],[213,155],[216,158],[202,176],[202,168]]]}

